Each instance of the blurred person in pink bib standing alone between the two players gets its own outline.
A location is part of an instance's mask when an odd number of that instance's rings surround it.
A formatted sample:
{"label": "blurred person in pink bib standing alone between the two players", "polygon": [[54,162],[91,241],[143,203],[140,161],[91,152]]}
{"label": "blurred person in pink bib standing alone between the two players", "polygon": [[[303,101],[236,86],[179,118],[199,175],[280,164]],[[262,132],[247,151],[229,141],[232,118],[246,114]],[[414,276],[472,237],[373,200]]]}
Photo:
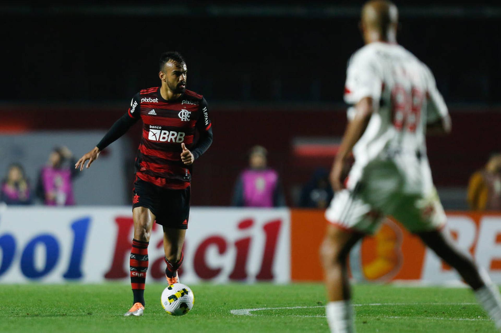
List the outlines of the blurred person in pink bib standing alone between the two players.
{"label": "blurred person in pink bib standing alone between the two players", "polygon": [[267,167],[268,151],[261,145],[250,150],[249,167],[240,173],[232,204],[239,207],[285,206],[279,175]]}

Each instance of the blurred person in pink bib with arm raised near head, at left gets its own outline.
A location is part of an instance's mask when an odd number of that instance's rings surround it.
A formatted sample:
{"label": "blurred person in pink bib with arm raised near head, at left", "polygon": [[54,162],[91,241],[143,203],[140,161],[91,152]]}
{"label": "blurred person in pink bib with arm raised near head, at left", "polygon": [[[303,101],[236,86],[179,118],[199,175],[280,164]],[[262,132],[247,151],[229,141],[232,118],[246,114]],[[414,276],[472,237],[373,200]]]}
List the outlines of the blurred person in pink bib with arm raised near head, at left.
{"label": "blurred person in pink bib with arm raised near head, at left", "polygon": [[56,147],[40,170],[37,195],[46,205],[75,204],[72,180],[78,175],[76,160],[68,147]]}

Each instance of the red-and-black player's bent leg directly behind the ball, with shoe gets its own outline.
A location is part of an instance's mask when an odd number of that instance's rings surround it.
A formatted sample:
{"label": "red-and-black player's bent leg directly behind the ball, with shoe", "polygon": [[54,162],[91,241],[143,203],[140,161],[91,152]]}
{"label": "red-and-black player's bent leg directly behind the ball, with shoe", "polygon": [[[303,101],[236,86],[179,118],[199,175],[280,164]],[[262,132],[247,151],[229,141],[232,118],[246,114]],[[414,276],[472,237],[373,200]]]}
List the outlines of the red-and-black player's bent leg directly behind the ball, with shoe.
{"label": "red-and-black player's bent leg directly behind the ball, with shoe", "polygon": [[186,229],[163,227],[163,250],[165,252],[165,277],[169,284],[179,282],[177,269],[183,263],[183,244]]}

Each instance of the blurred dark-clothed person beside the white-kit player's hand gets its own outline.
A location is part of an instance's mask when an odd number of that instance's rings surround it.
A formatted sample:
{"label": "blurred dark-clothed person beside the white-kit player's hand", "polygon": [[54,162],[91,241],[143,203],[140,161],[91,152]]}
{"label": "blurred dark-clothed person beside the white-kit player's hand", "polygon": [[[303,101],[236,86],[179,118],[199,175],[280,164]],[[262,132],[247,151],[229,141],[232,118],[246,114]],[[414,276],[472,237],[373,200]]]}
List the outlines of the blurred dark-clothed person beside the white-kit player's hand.
{"label": "blurred dark-clothed person beside the white-kit player's hand", "polygon": [[318,168],[301,189],[299,206],[326,208],[333,196],[334,192],[329,183],[329,172],[325,168]]}

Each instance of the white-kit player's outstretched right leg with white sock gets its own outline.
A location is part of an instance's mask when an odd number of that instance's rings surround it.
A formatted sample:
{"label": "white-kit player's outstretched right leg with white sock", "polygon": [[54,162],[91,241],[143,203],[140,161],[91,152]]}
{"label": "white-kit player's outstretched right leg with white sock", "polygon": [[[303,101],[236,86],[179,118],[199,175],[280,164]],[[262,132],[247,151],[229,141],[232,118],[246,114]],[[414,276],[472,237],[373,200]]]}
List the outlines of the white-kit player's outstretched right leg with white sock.
{"label": "white-kit player's outstretched right leg with white sock", "polygon": [[483,268],[452,242],[447,231],[420,232],[418,235],[439,257],[454,267],[463,280],[471,286],[478,302],[501,329],[501,296]]}

